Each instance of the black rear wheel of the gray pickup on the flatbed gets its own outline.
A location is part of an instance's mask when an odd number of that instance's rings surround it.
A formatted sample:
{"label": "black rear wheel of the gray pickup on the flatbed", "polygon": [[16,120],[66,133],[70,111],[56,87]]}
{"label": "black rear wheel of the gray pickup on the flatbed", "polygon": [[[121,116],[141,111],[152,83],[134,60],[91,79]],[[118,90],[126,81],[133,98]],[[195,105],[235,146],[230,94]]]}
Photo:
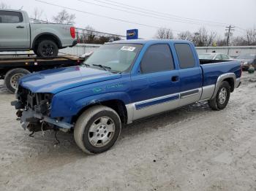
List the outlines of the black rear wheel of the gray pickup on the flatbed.
{"label": "black rear wheel of the gray pickup on the flatbed", "polygon": [[59,48],[53,40],[47,39],[39,42],[35,53],[39,57],[56,57],[58,55]]}

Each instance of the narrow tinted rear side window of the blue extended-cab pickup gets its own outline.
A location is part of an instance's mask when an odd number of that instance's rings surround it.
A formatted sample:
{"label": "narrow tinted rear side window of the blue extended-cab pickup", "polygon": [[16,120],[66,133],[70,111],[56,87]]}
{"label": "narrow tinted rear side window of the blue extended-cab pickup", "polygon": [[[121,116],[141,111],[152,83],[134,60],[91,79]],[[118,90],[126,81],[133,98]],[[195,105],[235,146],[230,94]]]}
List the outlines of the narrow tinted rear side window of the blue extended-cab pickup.
{"label": "narrow tinted rear side window of the blue extended-cab pickup", "polygon": [[175,44],[178,55],[178,62],[181,69],[192,68],[195,66],[195,59],[189,44]]}

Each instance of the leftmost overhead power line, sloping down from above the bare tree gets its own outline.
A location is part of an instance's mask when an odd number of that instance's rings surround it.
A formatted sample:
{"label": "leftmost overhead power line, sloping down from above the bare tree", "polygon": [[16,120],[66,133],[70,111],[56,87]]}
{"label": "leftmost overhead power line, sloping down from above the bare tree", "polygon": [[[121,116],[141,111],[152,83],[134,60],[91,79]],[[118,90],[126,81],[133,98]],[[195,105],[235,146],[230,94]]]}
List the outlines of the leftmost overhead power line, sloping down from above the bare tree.
{"label": "leftmost overhead power line, sloping down from above the bare tree", "polygon": [[[105,15],[99,15],[99,14],[93,13],[93,12],[86,12],[86,11],[82,11],[82,10],[79,10],[79,9],[73,9],[73,8],[70,8],[70,7],[61,6],[59,4],[49,3],[47,1],[41,1],[41,0],[34,0],[34,1],[38,1],[38,2],[43,3],[43,4],[50,4],[50,5],[55,6],[55,7],[70,9],[70,10],[73,10],[73,11],[76,11],[76,12],[83,12],[83,13],[88,14],[88,15],[94,15],[94,16],[97,16],[97,17],[105,17],[105,18],[108,18],[110,20],[117,20],[117,21],[120,21],[120,22],[123,22],[123,23],[131,23],[131,24],[135,24],[135,25],[138,25],[138,26],[146,26],[146,27],[149,27],[149,28],[161,28],[159,26],[151,26],[151,25],[148,25],[148,24],[136,23],[136,22],[129,21],[129,20],[122,20],[122,19],[118,19],[118,18],[108,17],[108,16],[105,16]],[[176,31],[176,30],[173,30],[173,31]],[[178,32],[180,32],[180,31],[178,31]]]}

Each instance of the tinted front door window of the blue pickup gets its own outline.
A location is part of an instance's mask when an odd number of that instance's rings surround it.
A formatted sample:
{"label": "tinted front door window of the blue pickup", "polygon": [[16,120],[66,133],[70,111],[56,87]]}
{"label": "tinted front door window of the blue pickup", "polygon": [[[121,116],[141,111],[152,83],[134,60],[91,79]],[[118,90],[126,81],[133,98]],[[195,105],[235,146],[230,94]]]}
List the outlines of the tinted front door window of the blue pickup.
{"label": "tinted front door window of the blue pickup", "polygon": [[140,63],[140,71],[143,74],[173,69],[173,56],[167,44],[154,44],[148,47]]}

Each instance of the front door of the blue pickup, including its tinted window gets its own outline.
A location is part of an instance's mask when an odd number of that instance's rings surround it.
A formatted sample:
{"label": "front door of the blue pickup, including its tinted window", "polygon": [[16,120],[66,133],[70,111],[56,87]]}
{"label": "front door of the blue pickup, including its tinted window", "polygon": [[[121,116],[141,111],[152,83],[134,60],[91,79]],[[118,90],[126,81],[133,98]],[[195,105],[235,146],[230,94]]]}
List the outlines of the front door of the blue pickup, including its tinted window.
{"label": "front door of the blue pickup, including its tinted window", "polygon": [[169,44],[149,46],[138,70],[131,77],[133,120],[178,106],[179,74]]}

